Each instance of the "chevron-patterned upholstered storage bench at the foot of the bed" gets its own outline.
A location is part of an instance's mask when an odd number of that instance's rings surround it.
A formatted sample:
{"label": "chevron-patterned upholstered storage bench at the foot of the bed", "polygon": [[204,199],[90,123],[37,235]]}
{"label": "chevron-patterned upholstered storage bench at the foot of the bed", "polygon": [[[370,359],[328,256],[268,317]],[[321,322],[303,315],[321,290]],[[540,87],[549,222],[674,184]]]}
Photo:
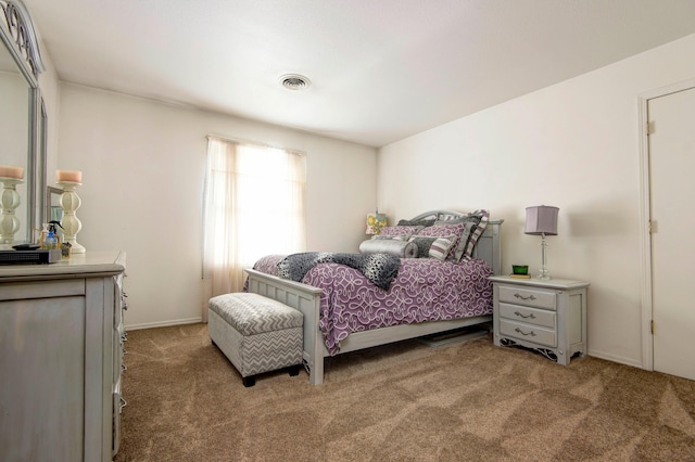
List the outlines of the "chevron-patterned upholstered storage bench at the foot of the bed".
{"label": "chevron-patterned upholstered storage bench at the foot of the bed", "polygon": [[207,304],[207,332],[214,345],[241,374],[243,385],[255,385],[256,374],[302,363],[302,312],[258,294],[235,293]]}

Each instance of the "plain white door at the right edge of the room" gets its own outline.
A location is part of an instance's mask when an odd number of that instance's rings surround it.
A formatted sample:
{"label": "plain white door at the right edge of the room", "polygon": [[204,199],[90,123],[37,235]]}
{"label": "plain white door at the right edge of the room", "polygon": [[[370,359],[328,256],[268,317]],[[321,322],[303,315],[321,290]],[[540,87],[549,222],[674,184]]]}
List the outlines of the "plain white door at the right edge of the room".
{"label": "plain white door at the right edge of the room", "polygon": [[647,111],[654,370],[695,380],[695,88]]}

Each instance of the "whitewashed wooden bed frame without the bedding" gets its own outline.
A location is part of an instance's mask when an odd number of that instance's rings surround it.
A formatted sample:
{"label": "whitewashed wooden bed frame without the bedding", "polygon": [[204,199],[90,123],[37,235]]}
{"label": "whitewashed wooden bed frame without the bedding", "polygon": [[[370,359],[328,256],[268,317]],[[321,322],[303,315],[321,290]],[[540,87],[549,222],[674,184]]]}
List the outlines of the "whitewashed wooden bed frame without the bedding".
{"label": "whitewashed wooden bed frame without the bedding", "polygon": [[[438,214],[460,215],[452,210],[434,210],[419,215],[415,219],[424,219]],[[490,266],[494,274],[501,274],[502,256],[500,252],[500,228],[504,220],[491,220],[483,234],[479,238],[473,251],[473,256],[482,258]],[[324,358],[330,356],[321,332],[318,328],[319,304],[321,290],[266,274],[253,269],[245,270],[249,274],[249,292],[261,294],[265,297],[281,301],[292,308],[299,309],[304,315],[304,367],[309,373],[309,382],[313,385],[324,383]],[[372,331],[354,332],[341,342],[340,352],[355,351],[378,345],[386,345],[407,338],[420,337],[439,332],[451,331],[468,325],[490,322],[492,316],[479,316],[447,321],[429,321],[417,324],[402,324],[390,328],[381,328]]]}

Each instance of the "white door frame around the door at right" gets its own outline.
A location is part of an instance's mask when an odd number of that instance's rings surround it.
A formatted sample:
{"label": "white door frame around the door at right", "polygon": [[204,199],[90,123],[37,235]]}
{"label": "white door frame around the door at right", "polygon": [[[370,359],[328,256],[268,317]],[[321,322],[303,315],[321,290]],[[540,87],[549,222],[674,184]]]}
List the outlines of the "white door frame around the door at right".
{"label": "white door frame around the door at right", "polygon": [[649,222],[652,220],[652,190],[649,171],[649,100],[666,97],[695,88],[695,78],[672,84],[666,87],[645,91],[639,100],[639,133],[640,133],[640,246],[642,248],[642,368],[654,371],[654,335],[652,320],[654,319],[654,299],[652,293],[652,235]]}

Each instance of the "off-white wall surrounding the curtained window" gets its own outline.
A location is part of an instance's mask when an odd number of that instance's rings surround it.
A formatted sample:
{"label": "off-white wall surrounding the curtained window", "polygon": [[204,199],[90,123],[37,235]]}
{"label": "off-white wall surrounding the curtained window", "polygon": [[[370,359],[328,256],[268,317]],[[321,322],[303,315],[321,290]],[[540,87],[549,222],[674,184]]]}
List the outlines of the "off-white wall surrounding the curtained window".
{"label": "off-white wall surrounding the curtained window", "polygon": [[84,172],[77,241],[126,251],[130,329],[200,320],[207,133],[306,153],[308,249],[354,252],[364,239],[372,147],[68,84],[60,97],[58,168]]}

